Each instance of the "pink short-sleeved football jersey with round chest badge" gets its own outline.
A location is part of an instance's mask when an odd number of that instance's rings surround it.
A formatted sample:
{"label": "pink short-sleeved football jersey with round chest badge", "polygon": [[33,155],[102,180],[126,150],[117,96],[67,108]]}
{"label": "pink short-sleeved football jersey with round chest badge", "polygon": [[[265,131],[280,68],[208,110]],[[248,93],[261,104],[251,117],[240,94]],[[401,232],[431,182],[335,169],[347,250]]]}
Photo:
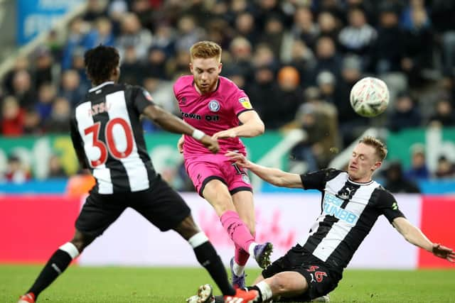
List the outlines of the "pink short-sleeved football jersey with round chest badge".
{"label": "pink short-sleeved football jersey with round chest badge", "polygon": [[[218,87],[210,94],[199,94],[193,83],[193,76],[183,76],[173,85],[173,92],[178,100],[183,120],[200,129],[208,136],[218,131],[239,126],[238,115],[243,111],[252,110],[247,94],[239,89],[234,82],[220,77]],[[240,138],[219,139],[220,152],[238,150],[245,154],[245,145]],[[210,151],[191,136],[185,136],[183,156],[191,158]]]}

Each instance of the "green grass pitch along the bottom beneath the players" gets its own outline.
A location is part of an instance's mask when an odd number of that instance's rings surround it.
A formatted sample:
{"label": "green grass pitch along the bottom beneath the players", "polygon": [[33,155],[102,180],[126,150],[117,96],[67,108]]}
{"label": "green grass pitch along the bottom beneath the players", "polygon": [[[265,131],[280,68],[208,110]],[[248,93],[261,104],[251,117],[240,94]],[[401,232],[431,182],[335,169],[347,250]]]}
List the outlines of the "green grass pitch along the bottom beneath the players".
{"label": "green grass pitch along the bottom beneath the players", "polygon": [[[0,265],[0,302],[16,302],[39,265]],[[247,282],[259,270],[247,270]],[[200,268],[87,268],[71,266],[38,302],[182,303],[211,282]],[[219,292],[217,291],[217,294]],[[347,270],[331,302],[454,302],[455,270]]]}

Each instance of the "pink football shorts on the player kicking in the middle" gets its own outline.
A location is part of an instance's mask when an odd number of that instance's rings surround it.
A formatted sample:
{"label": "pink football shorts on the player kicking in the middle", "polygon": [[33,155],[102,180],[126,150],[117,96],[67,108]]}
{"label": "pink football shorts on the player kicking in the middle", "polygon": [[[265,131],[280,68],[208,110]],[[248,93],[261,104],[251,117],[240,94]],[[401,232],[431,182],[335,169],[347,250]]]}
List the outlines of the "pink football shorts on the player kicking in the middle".
{"label": "pink football shorts on the player kicking in the middle", "polygon": [[185,168],[201,197],[205,184],[214,179],[226,184],[230,194],[243,190],[252,192],[247,170],[234,165],[225,155],[198,155],[187,158]]}

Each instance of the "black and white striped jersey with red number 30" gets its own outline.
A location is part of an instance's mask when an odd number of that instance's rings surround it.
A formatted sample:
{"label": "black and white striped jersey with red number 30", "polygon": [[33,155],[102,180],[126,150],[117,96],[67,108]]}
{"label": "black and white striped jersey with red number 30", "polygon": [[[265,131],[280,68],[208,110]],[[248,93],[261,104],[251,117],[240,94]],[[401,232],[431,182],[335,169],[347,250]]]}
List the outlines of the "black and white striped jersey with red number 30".
{"label": "black and white striped jersey with red number 30", "polygon": [[156,172],[139,121],[150,104],[150,94],[141,87],[105,82],[75,106],[71,138],[77,158],[96,179],[93,192],[137,192],[154,182]]}

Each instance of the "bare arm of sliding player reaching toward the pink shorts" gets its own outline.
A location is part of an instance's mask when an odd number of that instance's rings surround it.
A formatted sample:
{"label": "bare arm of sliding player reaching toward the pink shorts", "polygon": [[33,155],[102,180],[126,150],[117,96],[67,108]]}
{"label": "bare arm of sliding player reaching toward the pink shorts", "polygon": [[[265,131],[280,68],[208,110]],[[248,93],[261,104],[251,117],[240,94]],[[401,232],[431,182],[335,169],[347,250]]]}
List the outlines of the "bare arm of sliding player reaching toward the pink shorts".
{"label": "bare arm of sliding player reaching toward the pink shorts", "polygon": [[245,167],[254,172],[262,180],[267,181],[279,187],[289,188],[302,188],[300,175],[284,172],[277,168],[265,167],[257,165],[250,160],[247,160],[244,155],[240,153],[228,152],[226,153],[231,160],[235,161],[240,167]]}

